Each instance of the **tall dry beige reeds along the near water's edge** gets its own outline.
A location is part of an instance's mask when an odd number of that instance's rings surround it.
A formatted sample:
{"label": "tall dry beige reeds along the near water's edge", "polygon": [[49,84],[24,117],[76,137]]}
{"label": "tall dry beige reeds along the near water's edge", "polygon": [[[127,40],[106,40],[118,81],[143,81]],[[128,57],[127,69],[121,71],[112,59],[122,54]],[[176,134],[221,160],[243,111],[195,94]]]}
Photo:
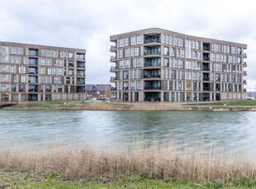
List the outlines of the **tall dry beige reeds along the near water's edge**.
{"label": "tall dry beige reeds along the near water's edge", "polygon": [[254,159],[244,153],[226,154],[198,145],[180,153],[173,142],[159,145],[136,143],[102,149],[92,145],[51,145],[0,150],[0,168],[35,173],[64,173],[78,178],[116,177],[146,173],[157,178],[184,178],[192,181],[229,182],[255,178]]}

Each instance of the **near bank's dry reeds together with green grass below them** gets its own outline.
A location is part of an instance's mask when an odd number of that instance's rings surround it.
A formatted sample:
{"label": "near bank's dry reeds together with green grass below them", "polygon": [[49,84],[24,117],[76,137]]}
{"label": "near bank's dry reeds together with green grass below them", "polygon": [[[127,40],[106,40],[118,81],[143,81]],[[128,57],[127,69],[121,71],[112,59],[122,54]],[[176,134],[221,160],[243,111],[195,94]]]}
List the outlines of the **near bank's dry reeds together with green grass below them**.
{"label": "near bank's dry reeds together with green grass below them", "polygon": [[225,153],[203,145],[181,150],[173,142],[151,145],[116,142],[114,147],[102,148],[90,144],[4,146],[0,150],[0,168],[2,186],[8,185],[11,178],[26,187],[45,184],[43,187],[79,188],[91,184],[106,188],[137,185],[217,188],[249,187],[256,183],[255,159],[246,153]]}

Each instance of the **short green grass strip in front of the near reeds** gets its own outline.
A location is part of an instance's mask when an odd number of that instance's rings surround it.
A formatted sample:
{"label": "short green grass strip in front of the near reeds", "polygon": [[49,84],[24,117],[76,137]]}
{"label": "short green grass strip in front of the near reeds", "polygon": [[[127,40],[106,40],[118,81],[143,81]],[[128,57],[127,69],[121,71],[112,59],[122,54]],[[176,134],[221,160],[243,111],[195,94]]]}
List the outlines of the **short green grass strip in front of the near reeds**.
{"label": "short green grass strip in front of the near reeds", "polygon": [[230,182],[196,182],[185,179],[158,179],[147,174],[133,176],[98,177],[97,180],[77,179],[57,173],[29,173],[0,171],[1,188],[253,188],[256,180],[242,178]]}

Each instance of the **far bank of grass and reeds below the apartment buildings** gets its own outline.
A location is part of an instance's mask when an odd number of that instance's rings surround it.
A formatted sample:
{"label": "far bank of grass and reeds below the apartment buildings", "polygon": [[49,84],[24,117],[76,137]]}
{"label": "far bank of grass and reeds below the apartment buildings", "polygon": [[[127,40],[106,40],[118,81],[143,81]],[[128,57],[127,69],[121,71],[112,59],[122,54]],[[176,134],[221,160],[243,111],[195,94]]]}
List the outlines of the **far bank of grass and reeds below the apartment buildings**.
{"label": "far bank of grass and reeds below the apartment buildings", "polygon": [[104,111],[256,111],[256,100],[200,104],[116,104],[103,101],[73,102],[54,100],[23,102],[1,109],[104,110]]}

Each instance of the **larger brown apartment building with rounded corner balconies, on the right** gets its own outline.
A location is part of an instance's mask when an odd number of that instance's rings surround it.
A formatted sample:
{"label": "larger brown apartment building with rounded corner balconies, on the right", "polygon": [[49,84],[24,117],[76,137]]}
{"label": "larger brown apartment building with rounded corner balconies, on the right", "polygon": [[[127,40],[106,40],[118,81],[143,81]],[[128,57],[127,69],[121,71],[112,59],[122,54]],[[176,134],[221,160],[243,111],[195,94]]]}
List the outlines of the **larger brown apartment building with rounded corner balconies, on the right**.
{"label": "larger brown apartment building with rounded corner balconies, on the right", "polygon": [[111,82],[121,101],[246,99],[246,44],[150,28],[111,35]]}

